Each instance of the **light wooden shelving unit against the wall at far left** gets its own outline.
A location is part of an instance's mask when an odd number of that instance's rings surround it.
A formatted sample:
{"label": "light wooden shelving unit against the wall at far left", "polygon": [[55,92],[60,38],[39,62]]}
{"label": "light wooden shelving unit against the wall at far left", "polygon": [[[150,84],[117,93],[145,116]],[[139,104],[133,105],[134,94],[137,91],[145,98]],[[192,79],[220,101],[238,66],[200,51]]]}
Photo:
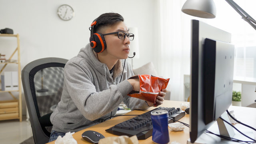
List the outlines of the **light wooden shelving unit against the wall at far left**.
{"label": "light wooden shelving unit against the wall at far left", "polygon": [[[12,60],[12,57],[17,52],[17,62],[0,62],[0,74],[4,71],[7,65],[18,64],[18,90],[7,90],[2,91],[0,89],[0,96],[3,92],[8,92],[12,96],[12,100],[0,101],[0,120],[19,119],[22,121],[22,95],[21,95],[21,68],[20,68],[20,37],[19,34],[0,34],[0,37],[16,37],[17,48],[14,50],[12,55],[7,60]],[[1,49],[1,48],[0,48]],[[0,80],[1,83],[1,80]],[[12,94],[12,92],[19,92],[18,99]]]}

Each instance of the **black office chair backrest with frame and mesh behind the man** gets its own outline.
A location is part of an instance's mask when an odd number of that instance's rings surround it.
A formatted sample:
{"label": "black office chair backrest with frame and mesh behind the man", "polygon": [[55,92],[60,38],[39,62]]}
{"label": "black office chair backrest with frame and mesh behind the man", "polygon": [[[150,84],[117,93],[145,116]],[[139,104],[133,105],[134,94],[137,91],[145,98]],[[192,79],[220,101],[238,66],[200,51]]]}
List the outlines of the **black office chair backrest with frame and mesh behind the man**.
{"label": "black office chair backrest with frame and mesh behind the man", "polygon": [[67,61],[63,58],[41,58],[22,69],[24,96],[36,144],[45,144],[50,139],[50,114],[60,101]]}

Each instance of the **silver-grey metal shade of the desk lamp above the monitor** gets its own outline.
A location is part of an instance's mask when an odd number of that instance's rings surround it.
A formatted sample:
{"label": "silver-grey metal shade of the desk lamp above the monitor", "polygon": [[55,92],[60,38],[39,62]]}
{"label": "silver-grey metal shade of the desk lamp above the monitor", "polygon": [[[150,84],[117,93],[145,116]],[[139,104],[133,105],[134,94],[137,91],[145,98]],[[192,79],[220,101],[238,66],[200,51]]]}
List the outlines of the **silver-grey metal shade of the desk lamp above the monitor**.
{"label": "silver-grey metal shade of the desk lamp above the monitor", "polygon": [[216,6],[213,0],[187,0],[182,6],[181,11],[199,18],[216,17]]}

